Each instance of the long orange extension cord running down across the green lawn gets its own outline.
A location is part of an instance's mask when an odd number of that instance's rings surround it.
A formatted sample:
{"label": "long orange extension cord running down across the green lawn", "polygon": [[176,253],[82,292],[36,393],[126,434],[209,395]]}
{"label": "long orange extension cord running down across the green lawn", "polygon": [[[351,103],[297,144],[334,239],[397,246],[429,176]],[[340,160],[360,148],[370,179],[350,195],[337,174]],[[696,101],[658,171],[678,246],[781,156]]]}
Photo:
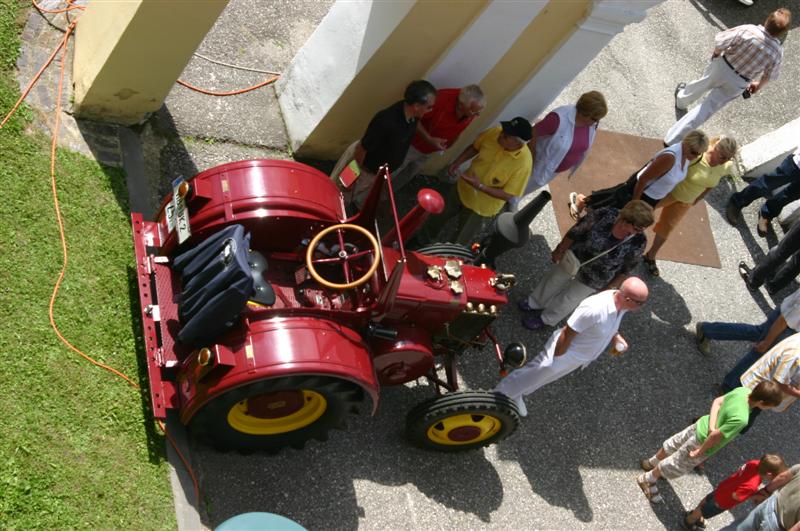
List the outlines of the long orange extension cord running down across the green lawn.
{"label": "long orange extension cord running down across the green lawn", "polygon": [[[57,13],[65,13],[65,12],[68,12],[68,11],[84,9],[83,6],[73,5],[74,1],[75,0],[67,0],[67,6],[65,8],[56,9],[56,10],[44,9],[44,8],[42,8],[41,6],[39,6],[36,3],[36,0],[31,0],[31,3],[33,4],[33,6],[37,10],[39,10],[42,13],[57,14]],[[66,63],[67,63],[67,60],[66,60],[67,59],[67,44],[68,44],[70,36],[72,35],[72,33],[75,30],[76,24],[77,24],[77,20],[71,22],[69,24],[69,26],[67,26],[67,30],[65,32],[64,38],[59,42],[58,46],[56,46],[56,48],[50,54],[50,57],[48,57],[47,61],[45,61],[45,63],[41,66],[41,68],[39,68],[39,70],[34,75],[33,79],[30,81],[30,83],[28,83],[28,86],[22,92],[22,95],[19,97],[17,102],[14,104],[14,106],[11,108],[11,110],[8,112],[8,114],[6,114],[6,116],[3,118],[2,122],[0,122],[0,129],[2,129],[2,127],[6,124],[6,122],[8,122],[9,118],[11,118],[11,116],[16,112],[16,110],[19,108],[19,106],[22,103],[22,101],[28,96],[28,94],[30,93],[31,89],[39,81],[39,78],[41,78],[42,73],[47,69],[48,66],[50,66],[50,64],[53,62],[53,59],[55,59],[56,55],[58,54],[59,50],[61,50],[61,67],[59,69],[60,71],[59,71],[59,77],[58,77],[58,92],[57,92],[57,97],[56,97],[55,119],[53,120],[53,134],[52,134],[52,140],[51,140],[51,143],[50,143],[50,187],[51,187],[51,190],[52,190],[52,193],[53,193],[53,208],[54,208],[55,213],[56,213],[56,221],[58,222],[58,232],[59,232],[59,237],[60,237],[60,240],[61,240],[62,263],[61,263],[61,271],[59,272],[58,279],[56,280],[55,286],[53,287],[53,293],[50,296],[50,304],[48,305],[48,312],[47,313],[48,313],[48,317],[50,319],[50,326],[55,331],[56,336],[58,336],[58,338],[61,340],[61,342],[64,343],[70,350],[72,350],[76,354],[80,355],[81,357],[83,357],[84,359],[89,361],[90,363],[92,363],[92,364],[94,364],[94,365],[96,365],[96,366],[98,366],[98,367],[100,367],[102,369],[105,369],[105,370],[111,372],[112,374],[115,374],[119,378],[122,378],[123,380],[125,380],[134,389],[140,390],[139,384],[137,384],[135,381],[133,381],[129,376],[123,374],[122,372],[114,369],[113,367],[111,367],[109,365],[106,365],[106,364],[104,364],[104,363],[102,363],[100,361],[95,360],[94,358],[92,358],[91,356],[87,355],[82,350],[80,350],[78,347],[73,345],[67,338],[65,338],[63,336],[63,334],[59,330],[58,325],[56,324],[56,321],[55,321],[55,314],[54,314],[55,302],[56,302],[56,298],[58,297],[59,289],[61,288],[61,282],[64,280],[64,276],[66,275],[67,265],[69,263],[69,252],[68,252],[68,247],[67,247],[67,239],[66,239],[66,235],[65,235],[65,231],[64,231],[64,220],[61,217],[61,207],[60,207],[60,204],[59,204],[59,201],[58,201],[58,188],[56,186],[56,147],[58,146],[58,131],[59,131],[60,123],[61,123],[61,100],[62,100],[62,94],[63,94],[63,90],[64,90],[64,72],[66,70]],[[196,503],[198,504],[198,507],[199,507],[199,504],[200,504],[200,484],[197,481],[197,477],[195,476],[194,471],[192,470],[192,467],[189,465],[189,462],[186,460],[186,458],[184,457],[183,453],[178,448],[177,443],[175,442],[175,440],[172,438],[172,435],[167,430],[166,425],[160,420],[157,421],[157,424],[158,424],[158,427],[161,429],[161,431],[164,432],[164,436],[167,438],[167,440],[172,445],[172,448],[175,450],[175,453],[180,458],[181,462],[183,463],[183,466],[186,467],[186,471],[188,472],[189,477],[191,477],[191,479],[192,479],[192,485],[194,486],[194,497],[195,497]]]}

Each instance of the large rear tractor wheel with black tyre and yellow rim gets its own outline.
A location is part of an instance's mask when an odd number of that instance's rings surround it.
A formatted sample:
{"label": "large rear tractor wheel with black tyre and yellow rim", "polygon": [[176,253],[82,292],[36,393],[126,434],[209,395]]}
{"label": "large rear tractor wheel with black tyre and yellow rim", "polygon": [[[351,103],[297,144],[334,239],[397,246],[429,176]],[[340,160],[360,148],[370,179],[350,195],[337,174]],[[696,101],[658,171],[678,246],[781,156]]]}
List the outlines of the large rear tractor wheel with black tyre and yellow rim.
{"label": "large rear tractor wheel with black tyre and yellow rim", "polygon": [[198,439],[223,451],[277,452],[327,439],[364,399],[356,384],[325,376],[289,376],[237,387],[206,404],[190,421]]}

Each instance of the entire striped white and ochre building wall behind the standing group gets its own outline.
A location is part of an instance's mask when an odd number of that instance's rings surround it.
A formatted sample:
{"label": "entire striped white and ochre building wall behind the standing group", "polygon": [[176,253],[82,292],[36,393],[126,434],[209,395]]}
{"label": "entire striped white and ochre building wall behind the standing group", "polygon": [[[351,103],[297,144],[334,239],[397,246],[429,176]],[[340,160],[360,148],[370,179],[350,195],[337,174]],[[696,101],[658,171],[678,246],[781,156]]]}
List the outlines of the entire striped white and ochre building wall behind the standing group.
{"label": "entire striped white and ochre building wall behind the standing group", "polygon": [[432,162],[443,164],[501,119],[535,119],[660,1],[337,2],[277,85],[291,146],[300,156],[338,158],[409,81],[478,83],[487,108],[448,157]]}

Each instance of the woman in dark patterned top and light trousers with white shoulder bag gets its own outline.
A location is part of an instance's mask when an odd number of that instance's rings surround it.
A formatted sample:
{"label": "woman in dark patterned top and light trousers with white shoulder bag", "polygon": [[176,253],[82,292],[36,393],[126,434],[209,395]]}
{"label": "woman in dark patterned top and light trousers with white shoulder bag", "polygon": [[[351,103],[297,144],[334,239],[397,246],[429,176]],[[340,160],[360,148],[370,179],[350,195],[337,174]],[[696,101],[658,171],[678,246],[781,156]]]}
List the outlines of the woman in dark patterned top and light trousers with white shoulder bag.
{"label": "woman in dark patterned top and light trousers with white shoulder bag", "polygon": [[639,263],[647,246],[642,234],[653,224],[653,207],[630,201],[621,210],[591,209],[553,250],[553,265],[518,307],[529,315],[522,326],[555,326],[593,293],[616,288]]}

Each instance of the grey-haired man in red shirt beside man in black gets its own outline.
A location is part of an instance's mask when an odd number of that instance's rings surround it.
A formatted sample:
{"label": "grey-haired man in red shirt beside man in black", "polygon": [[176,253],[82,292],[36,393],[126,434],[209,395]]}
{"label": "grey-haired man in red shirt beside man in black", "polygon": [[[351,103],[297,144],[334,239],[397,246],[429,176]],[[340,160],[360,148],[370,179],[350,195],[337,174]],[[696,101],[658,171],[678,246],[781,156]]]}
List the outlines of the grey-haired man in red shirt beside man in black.
{"label": "grey-haired man in red shirt beside man in black", "polygon": [[392,172],[394,190],[407,185],[432,153],[449,149],[485,106],[486,98],[478,85],[436,91],[433,109],[417,122],[406,158]]}

